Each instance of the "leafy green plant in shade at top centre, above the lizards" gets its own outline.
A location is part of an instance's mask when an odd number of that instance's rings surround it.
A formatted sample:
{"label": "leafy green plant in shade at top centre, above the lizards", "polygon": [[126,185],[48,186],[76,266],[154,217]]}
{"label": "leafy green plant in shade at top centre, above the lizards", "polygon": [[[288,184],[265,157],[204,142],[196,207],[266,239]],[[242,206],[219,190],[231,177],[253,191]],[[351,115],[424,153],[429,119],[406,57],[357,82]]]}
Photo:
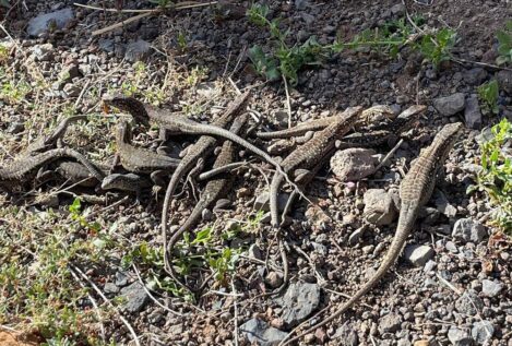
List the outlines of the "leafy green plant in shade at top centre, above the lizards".
{"label": "leafy green plant in shade at top centre, above the lizards", "polygon": [[296,85],[298,71],[305,65],[319,64],[322,52],[331,49],[320,45],[314,36],[311,36],[301,45],[289,47],[286,44],[289,31],[281,31],[278,19],[267,20],[267,5],[253,3],[247,15],[255,25],[267,26],[271,33],[274,45],[272,52],[265,53],[263,48],[258,45],[249,49],[249,58],[255,70],[269,81],[277,81],[281,76],[284,76],[293,85]]}

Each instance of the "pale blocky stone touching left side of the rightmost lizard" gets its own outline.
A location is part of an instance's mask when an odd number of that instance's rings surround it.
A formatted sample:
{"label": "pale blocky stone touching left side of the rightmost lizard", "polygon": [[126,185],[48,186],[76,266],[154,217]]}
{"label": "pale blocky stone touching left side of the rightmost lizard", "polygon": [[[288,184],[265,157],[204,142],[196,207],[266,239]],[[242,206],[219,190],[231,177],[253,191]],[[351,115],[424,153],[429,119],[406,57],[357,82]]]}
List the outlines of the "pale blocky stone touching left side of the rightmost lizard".
{"label": "pale blocky stone touching left side of the rightmost lizard", "polygon": [[362,198],[365,219],[374,225],[391,225],[396,218],[396,208],[390,193],[384,189],[369,189]]}

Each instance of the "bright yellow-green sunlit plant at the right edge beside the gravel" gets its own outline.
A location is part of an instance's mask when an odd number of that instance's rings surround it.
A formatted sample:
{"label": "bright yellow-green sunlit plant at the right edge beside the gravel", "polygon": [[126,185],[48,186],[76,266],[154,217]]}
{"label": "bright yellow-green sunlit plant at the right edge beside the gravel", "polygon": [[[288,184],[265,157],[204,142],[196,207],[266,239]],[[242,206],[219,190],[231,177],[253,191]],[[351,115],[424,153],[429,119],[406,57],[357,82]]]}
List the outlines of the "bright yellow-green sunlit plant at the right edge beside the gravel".
{"label": "bright yellow-green sunlit plant at the right edge beside the gravel", "polygon": [[492,223],[512,234],[512,153],[507,144],[512,141],[512,124],[503,118],[491,128],[491,134],[480,144],[481,170],[467,192],[485,191],[495,207]]}

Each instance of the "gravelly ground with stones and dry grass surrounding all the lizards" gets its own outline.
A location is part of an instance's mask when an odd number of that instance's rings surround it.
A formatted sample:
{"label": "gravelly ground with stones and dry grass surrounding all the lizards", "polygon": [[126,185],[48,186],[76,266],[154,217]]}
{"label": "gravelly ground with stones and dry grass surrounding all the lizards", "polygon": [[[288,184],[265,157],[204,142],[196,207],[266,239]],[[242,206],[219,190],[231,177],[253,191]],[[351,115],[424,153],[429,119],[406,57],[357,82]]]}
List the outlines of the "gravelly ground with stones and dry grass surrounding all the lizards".
{"label": "gravelly ground with stones and dry grass surrounding all the lizards", "polygon": [[[107,9],[120,4],[78,2]],[[289,28],[291,43],[312,35],[323,45],[336,37],[348,41],[366,28],[404,17],[406,11],[421,14],[430,28],[451,27],[457,34],[456,59],[439,68],[407,48],[396,58],[359,49],[299,72],[297,85],[289,87],[294,123],[357,105],[385,104],[396,112],[415,104],[428,109],[374,174],[368,176],[394,143],[373,152],[338,153],[308,186],[313,203],[296,203],[285,226],[290,281],[283,295],[263,295],[282,282],[265,213],[263,175],[271,177],[270,166],[240,170],[222,207],[203,213],[199,229],[210,229],[212,237],[188,247],[202,255],[194,265],[203,269],[197,273],[216,269],[219,275],[198,297],[163,271],[162,192],[155,196],[147,191],[135,205],[133,198],[116,193],[35,186],[16,198],[0,196],[0,341],[135,345],[136,335],[140,345],[277,345],[321,309],[328,307],[308,323],[329,317],[371,276],[395,230],[396,211],[388,207],[388,191],[397,188],[441,126],[464,121],[445,177],[396,267],[336,323],[301,343],[511,346],[510,238],[489,226],[487,196],[466,190],[478,169],[478,142],[501,118],[512,120],[512,72],[495,65],[495,33],[512,17],[512,7],[503,0],[420,2],[427,1],[267,1],[270,17],[282,17],[279,25]],[[72,114],[90,115],[90,120],[73,126],[66,142],[94,160],[111,157],[115,119],[100,110],[102,95],[111,92],[132,93],[211,121],[235,98],[233,84],[241,91],[251,87],[250,108],[263,116],[263,127],[286,128],[284,83],[265,82],[247,56],[255,44],[269,49],[271,40],[267,29],[248,21],[248,5],[242,1],[158,13],[96,36],[92,33],[138,13],[57,0],[0,7],[1,162]],[[147,1],[122,3],[124,10],[153,7]],[[493,79],[500,86],[497,115],[485,112],[477,96],[477,87]],[[156,130],[136,132],[135,143],[156,148],[157,135]],[[193,139],[183,141],[179,145]],[[282,155],[279,146],[288,144],[276,141],[269,151]],[[350,168],[359,177],[347,179],[350,169],[343,155],[348,154],[368,164]],[[73,204],[78,195],[80,206]],[[194,201],[186,188],[172,202],[174,227]],[[384,213],[378,225],[362,217],[370,207]],[[200,261],[209,255],[222,264]],[[180,265],[188,270],[192,262]]]}

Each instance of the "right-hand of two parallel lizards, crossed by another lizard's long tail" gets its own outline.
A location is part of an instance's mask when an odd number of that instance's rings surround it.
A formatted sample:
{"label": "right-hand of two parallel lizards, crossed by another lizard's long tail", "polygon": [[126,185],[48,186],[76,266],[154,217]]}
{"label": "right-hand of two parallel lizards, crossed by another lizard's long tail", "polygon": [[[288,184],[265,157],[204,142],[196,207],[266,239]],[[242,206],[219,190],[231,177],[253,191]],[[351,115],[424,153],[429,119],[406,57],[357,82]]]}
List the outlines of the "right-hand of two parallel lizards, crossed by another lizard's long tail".
{"label": "right-hand of two parallel lizards, crossed by another lizard's long tail", "polygon": [[[229,131],[233,133],[238,134],[246,122],[248,121],[248,116],[243,115],[238,119],[235,119],[231,128]],[[223,143],[223,146],[221,147],[221,153],[218,154],[217,158],[215,159],[215,163],[213,164],[213,168],[218,168],[223,167],[225,165],[228,165],[233,162],[235,156],[235,146],[233,142],[230,141],[225,141]],[[216,200],[218,200],[223,194],[227,192],[227,189],[229,188],[229,182],[230,179],[229,177],[219,177],[216,179],[210,180],[206,186],[204,187],[203,193],[201,194],[201,199],[198,201],[195,204],[192,213],[190,216],[184,220],[184,223],[180,226],[180,228],[172,234],[172,236],[169,239],[169,242],[167,244],[167,252],[168,254],[168,261],[171,263],[171,255],[172,255],[172,249],[175,244],[178,242],[180,237],[186,232],[192,230],[192,228],[199,223],[201,219],[201,214],[203,210],[206,207],[210,207]],[[172,266],[170,266],[172,269]],[[175,279],[177,279],[175,277]],[[178,281],[178,279],[177,279]],[[183,284],[183,286],[186,286]],[[189,288],[190,289],[190,288]]]}

